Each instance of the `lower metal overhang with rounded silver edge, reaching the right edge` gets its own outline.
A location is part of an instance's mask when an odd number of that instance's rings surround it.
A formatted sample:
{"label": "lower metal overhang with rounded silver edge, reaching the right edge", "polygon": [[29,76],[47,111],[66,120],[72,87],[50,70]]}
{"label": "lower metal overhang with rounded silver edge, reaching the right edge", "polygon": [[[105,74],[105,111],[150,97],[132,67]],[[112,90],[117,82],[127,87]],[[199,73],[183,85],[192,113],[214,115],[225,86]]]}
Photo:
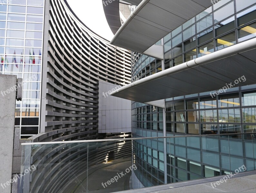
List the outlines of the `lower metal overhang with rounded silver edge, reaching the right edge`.
{"label": "lower metal overhang with rounded silver edge, reaching the right edge", "polygon": [[256,84],[256,38],[190,60],[132,82],[112,96],[149,102],[218,90],[244,76],[235,86]]}

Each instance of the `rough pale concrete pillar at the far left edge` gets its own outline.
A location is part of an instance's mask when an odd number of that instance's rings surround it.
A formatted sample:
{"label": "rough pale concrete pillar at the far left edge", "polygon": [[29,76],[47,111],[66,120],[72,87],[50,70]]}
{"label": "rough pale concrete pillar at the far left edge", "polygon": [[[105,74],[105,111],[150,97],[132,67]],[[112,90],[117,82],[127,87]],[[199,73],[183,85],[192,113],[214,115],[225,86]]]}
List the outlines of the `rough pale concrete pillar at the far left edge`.
{"label": "rough pale concrete pillar at the far left edge", "polygon": [[0,75],[0,82],[0,192],[10,193],[6,182],[12,179],[17,76]]}

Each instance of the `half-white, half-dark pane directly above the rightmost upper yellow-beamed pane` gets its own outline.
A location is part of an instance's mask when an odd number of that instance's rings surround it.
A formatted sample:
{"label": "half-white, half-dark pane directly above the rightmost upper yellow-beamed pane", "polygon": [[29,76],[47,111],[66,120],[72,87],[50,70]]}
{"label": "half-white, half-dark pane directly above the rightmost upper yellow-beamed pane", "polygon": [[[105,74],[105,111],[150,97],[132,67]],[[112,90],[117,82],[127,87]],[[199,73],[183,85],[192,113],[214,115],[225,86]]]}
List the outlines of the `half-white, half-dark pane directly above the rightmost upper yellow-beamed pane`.
{"label": "half-white, half-dark pane directly above the rightmost upper yellow-beamed pane", "polygon": [[256,18],[256,5],[246,9],[245,11],[236,15],[237,17],[237,26],[242,26],[246,23],[249,23]]}

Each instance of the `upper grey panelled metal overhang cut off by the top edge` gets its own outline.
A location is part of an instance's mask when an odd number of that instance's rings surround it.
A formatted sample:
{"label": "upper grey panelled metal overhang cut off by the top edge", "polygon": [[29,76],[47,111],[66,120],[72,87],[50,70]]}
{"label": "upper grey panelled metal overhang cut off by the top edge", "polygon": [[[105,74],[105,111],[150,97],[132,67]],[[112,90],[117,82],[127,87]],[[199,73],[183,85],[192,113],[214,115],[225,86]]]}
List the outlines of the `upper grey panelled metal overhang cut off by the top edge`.
{"label": "upper grey panelled metal overhang cut off by the top edge", "polygon": [[143,0],[110,43],[143,53],[169,32],[211,5],[210,0]]}

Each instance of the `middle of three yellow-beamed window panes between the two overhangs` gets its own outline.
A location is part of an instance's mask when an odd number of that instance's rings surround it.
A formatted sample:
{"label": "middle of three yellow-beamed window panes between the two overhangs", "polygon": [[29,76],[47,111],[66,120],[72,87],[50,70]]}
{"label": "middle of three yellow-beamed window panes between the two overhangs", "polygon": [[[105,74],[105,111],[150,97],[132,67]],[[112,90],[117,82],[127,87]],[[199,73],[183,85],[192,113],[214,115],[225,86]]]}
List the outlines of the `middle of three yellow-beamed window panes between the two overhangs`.
{"label": "middle of three yellow-beamed window panes between the two overhangs", "polygon": [[236,44],[236,33],[231,32],[215,40],[216,51]]}

